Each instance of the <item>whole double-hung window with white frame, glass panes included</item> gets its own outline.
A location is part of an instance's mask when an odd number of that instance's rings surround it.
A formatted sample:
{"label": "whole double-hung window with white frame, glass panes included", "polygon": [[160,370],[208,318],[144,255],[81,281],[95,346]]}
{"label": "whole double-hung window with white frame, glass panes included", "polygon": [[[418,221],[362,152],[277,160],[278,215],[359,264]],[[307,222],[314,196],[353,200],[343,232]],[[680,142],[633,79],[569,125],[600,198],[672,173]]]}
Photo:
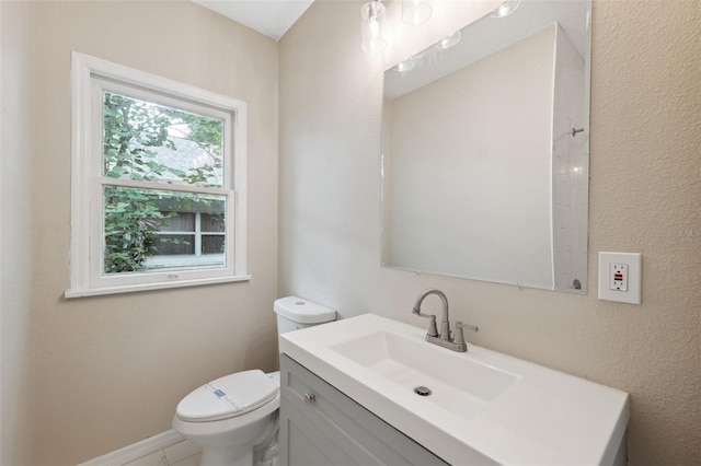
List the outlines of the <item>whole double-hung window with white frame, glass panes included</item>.
{"label": "whole double-hung window with white frame, glass panes included", "polygon": [[246,280],[245,104],[73,53],[67,298]]}

